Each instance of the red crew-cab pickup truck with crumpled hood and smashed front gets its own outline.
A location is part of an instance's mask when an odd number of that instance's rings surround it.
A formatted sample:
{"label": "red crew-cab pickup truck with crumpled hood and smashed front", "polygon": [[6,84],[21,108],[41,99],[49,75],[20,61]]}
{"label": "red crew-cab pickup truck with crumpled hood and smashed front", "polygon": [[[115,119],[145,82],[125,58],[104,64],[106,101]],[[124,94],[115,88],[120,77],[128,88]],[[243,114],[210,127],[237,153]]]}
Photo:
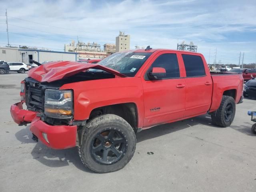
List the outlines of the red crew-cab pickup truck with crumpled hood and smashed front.
{"label": "red crew-cab pickup truck with crumpled hood and smashed front", "polygon": [[242,74],[211,74],[202,54],[148,47],[32,68],[10,111],[46,146],[78,146],[84,165],[105,173],[130,161],[140,130],[207,113],[229,126],[242,90]]}

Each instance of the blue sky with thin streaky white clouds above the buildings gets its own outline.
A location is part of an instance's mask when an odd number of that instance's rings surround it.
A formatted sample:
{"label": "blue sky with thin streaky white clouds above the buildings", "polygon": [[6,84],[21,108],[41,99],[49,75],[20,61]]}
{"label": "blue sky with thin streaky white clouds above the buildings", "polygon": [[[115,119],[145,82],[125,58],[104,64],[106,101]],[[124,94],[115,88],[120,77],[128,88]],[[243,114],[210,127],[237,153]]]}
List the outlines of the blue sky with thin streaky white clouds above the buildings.
{"label": "blue sky with thin streaky white clouds above the buildings", "polygon": [[[0,0],[0,46],[63,51],[77,42],[115,43],[119,31],[138,46],[176,49],[193,42],[206,61],[256,62],[256,0]],[[242,54],[241,61],[242,62]]]}

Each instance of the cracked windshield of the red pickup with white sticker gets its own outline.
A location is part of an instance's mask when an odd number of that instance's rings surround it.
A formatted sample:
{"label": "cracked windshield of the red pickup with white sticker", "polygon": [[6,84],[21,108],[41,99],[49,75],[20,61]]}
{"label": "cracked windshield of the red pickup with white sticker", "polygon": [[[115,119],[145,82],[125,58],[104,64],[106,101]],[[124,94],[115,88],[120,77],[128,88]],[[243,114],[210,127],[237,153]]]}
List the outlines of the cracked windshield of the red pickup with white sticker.
{"label": "cracked windshield of the red pickup with white sticker", "polygon": [[104,58],[97,64],[117,70],[126,76],[133,77],[151,54],[152,53],[148,52],[134,52],[134,50],[129,52],[117,52]]}

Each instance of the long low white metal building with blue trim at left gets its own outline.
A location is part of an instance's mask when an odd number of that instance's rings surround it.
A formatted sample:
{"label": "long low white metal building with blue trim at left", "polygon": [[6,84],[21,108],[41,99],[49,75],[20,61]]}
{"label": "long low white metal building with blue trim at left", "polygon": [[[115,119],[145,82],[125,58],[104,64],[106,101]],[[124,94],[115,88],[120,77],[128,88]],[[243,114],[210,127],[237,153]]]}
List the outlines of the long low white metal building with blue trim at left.
{"label": "long low white metal building with blue trim at left", "polygon": [[44,61],[76,61],[78,60],[78,54],[50,50],[0,47],[0,60],[5,60],[6,62],[24,62],[25,64],[28,64],[29,60],[35,60],[39,63]]}

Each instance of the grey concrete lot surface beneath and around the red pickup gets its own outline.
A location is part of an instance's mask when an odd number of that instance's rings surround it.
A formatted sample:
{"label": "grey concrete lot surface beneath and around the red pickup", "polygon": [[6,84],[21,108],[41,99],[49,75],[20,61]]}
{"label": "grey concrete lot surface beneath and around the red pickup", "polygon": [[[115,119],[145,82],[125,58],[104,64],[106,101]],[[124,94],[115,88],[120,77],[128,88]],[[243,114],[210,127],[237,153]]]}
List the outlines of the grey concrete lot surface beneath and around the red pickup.
{"label": "grey concrete lot surface beneath and around the red pickup", "polygon": [[236,105],[228,128],[213,126],[203,115],[144,130],[127,166],[96,174],[84,167],[77,148],[47,148],[31,139],[29,125],[13,122],[10,105],[19,102],[26,76],[0,75],[1,192],[256,191],[256,135],[247,115],[256,110],[256,100]]}

